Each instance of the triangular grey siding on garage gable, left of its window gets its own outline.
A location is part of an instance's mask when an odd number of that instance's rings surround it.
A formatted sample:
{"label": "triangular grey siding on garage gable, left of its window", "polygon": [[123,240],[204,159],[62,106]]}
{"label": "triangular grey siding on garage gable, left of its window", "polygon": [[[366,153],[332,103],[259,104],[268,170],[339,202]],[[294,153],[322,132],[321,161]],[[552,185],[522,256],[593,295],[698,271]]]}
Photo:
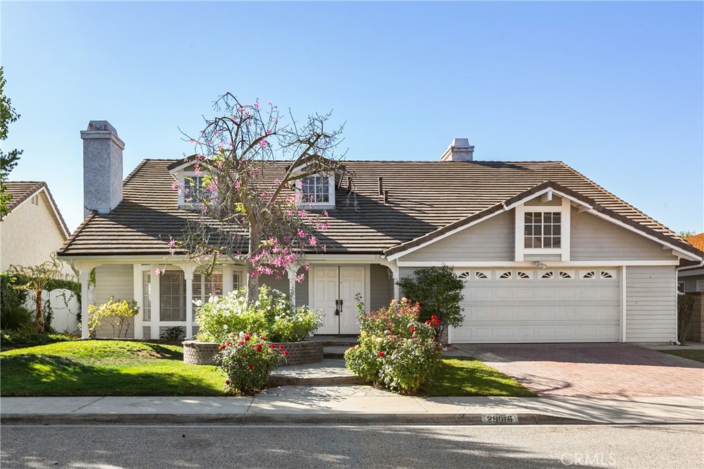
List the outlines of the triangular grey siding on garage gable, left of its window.
{"label": "triangular grey siding on garage gable, left of its window", "polygon": [[500,213],[403,256],[401,261],[513,261],[514,213]]}

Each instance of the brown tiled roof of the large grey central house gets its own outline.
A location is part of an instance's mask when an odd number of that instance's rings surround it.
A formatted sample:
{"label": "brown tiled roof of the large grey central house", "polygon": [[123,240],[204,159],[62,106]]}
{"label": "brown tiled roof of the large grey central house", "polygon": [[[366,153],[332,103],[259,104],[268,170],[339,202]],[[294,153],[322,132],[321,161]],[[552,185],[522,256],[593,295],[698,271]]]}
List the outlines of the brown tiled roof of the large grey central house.
{"label": "brown tiled roof of the large grey central house", "polygon": [[[62,256],[168,254],[188,216],[177,208],[168,168],[181,160],[144,160],[124,182],[124,200],[111,213],[89,215],[62,246]],[[290,162],[272,162],[271,179]],[[382,254],[398,244],[501,204],[552,181],[678,246],[667,227],[559,161],[344,161],[353,177],[336,191],[329,228],[320,235],[328,254]],[[389,191],[379,195],[379,177]],[[691,247],[689,247],[691,249]]]}

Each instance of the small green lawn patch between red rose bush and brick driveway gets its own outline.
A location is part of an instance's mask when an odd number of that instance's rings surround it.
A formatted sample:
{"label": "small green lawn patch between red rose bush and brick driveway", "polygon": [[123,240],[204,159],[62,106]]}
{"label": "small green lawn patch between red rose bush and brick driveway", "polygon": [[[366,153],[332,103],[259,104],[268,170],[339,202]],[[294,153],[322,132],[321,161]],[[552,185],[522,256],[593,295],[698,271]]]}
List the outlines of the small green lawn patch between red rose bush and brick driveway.
{"label": "small green lawn patch between red rose bush and brick driveway", "polygon": [[536,396],[513,378],[472,358],[444,358],[421,391],[427,396]]}

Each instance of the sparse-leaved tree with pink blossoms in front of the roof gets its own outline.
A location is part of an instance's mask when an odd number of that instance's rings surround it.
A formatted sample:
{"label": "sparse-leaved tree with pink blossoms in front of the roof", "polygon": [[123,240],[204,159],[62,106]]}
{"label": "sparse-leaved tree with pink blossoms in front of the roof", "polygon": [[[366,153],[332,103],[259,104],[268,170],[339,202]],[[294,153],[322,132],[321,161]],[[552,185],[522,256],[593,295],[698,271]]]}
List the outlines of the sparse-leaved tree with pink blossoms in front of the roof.
{"label": "sparse-leaved tree with pink blossoms in front of the roof", "polygon": [[[317,234],[327,229],[327,212],[310,210],[296,181],[344,170],[334,151],[342,127],[326,127],[330,114],[310,115],[303,125],[282,121],[277,106],[242,104],[227,93],[214,105],[219,115],[205,120],[196,146],[194,177],[174,189],[192,213],[181,251],[210,273],[223,258],[244,263],[249,301],[258,296],[258,277],[287,275],[305,264],[306,252],[325,251]],[[302,275],[296,281],[303,280]]]}

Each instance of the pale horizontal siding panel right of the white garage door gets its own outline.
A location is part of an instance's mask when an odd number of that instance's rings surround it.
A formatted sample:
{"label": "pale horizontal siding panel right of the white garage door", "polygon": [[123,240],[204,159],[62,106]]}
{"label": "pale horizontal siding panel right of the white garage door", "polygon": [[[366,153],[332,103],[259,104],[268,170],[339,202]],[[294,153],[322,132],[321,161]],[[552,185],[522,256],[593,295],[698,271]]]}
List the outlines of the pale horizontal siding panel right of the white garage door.
{"label": "pale horizontal siding panel right of the white garage door", "polygon": [[626,269],[627,342],[677,339],[677,274],[674,266]]}

